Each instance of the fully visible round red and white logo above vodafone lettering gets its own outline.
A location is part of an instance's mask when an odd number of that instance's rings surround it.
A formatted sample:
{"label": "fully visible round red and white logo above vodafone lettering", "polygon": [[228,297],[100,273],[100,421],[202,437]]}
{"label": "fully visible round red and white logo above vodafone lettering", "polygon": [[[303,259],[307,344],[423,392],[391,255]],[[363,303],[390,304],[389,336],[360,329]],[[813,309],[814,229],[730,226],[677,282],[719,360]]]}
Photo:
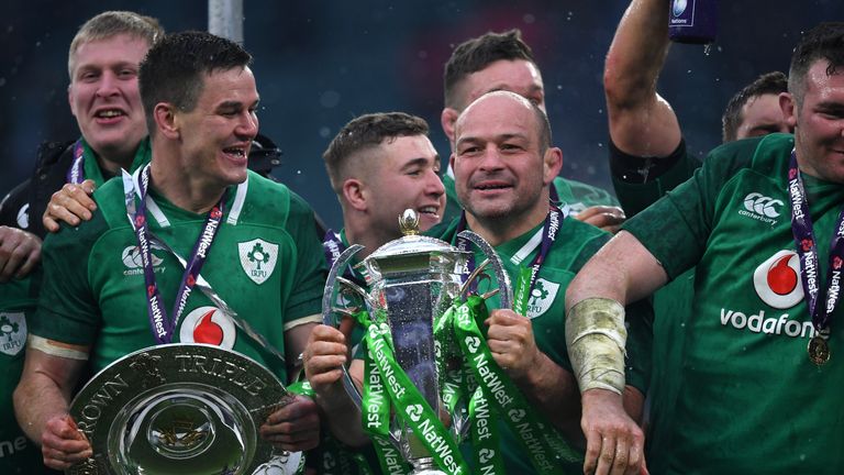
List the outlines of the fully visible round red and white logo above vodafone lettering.
{"label": "fully visible round red and white logo above vodafone lettering", "polygon": [[787,309],[803,299],[800,284],[800,258],[793,251],[779,251],[753,273],[753,287],[767,305]]}

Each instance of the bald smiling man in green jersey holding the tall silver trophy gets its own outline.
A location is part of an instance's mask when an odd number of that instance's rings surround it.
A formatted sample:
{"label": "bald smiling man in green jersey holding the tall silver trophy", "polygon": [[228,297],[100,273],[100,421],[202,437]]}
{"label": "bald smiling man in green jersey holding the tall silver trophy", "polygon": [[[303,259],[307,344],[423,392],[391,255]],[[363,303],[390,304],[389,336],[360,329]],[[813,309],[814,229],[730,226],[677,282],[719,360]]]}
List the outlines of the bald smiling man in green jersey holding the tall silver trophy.
{"label": "bald smiling man in green jersey holding the tall silver trophy", "polygon": [[[577,385],[563,344],[564,295],[575,273],[610,234],[571,218],[551,202],[549,187],[563,156],[551,144],[545,112],[529,99],[510,91],[481,96],[455,122],[455,137],[451,165],[465,212],[448,225],[443,239],[460,245],[456,236],[460,228],[480,234],[495,246],[513,281],[523,266],[534,266],[536,279],[524,289],[530,302],[524,314],[493,310],[484,322],[487,342],[495,362],[537,409],[538,417],[579,446],[582,435]],[[481,262],[480,255],[476,255],[476,262]],[[497,281],[486,280],[478,291],[484,294],[497,286]],[[649,311],[643,305],[631,308],[635,312]],[[631,340],[637,343],[649,334],[640,328],[631,329]],[[646,344],[642,347],[649,349]],[[316,400],[326,408],[326,420],[334,433],[349,444],[363,444],[360,412],[352,406],[340,382],[340,365],[347,361],[347,354],[344,335],[320,325],[311,333],[304,369]],[[638,417],[647,385],[648,353],[631,350],[631,354],[644,356],[631,360],[636,377],[631,377],[625,393],[630,412]],[[349,373],[363,379],[360,360],[352,362]],[[503,473],[536,473],[528,454],[519,451],[518,437],[503,422],[501,426]]]}

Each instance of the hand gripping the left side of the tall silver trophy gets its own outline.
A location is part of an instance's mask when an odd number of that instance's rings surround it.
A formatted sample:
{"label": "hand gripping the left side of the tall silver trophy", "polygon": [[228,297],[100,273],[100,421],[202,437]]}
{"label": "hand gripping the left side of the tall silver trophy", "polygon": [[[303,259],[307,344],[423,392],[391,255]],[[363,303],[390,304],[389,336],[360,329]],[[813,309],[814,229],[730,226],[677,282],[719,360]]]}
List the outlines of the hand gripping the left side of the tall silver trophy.
{"label": "hand gripping the left side of the tall silver trophy", "polygon": [[345,397],[338,383],[347,352],[345,335],[334,327],[321,324],[311,331],[302,358],[304,376],[318,398],[330,402],[340,395]]}

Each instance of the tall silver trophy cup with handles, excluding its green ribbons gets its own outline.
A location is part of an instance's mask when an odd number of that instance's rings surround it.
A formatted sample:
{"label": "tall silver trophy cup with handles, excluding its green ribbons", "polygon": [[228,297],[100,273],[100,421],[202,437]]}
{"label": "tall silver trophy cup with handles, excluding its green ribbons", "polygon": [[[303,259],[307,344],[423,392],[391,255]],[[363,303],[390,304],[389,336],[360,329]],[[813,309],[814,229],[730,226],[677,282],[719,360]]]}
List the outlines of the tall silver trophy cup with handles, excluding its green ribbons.
{"label": "tall silver trophy cup with handles, excluding its green ribbons", "polygon": [[[434,323],[455,301],[466,297],[471,284],[485,275],[489,264],[499,283],[500,289],[495,291],[500,290],[500,306],[510,308],[510,279],[492,247],[470,231],[463,231],[459,236],[478,246],[487,259],[466,278],[470,252],[460,251],[434,238],[419,235],[419,217],[413,210],[404,211],[399,218],[399,225],[404,234],[402,238],[382,245],[356,266],[364,268],[368,276],[368,291],[343,276],[347,264],[363,246],[352,245],[340,255],[325,285],[323,319],[325,324],[336,325],[338,317],[352,316],[362,309],[368,310],[370,317],[386,316],[396,362],[431,408],[443,415],[437,374],[440,352],[434,341]],[[438,363],[443,367],[444,362]],[[360,391],[352,382],[346,367],[343,368],[342,380],[346,393],[359,409]],[[445,419],[456,439],[466,434],[469,427],[466,411],[449,413]],[[390,440],[411,463],[413,474],[444,474],[437,470],[431,454],[419,443],[412,430],[402,424],[400,418],[392,418]]]}

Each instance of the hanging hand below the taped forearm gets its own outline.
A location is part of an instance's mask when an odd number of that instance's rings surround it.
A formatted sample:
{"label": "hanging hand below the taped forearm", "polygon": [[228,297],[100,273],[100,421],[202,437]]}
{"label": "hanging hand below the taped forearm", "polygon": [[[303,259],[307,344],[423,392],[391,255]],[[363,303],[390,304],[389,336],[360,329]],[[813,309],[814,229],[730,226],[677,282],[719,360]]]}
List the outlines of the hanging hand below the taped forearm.
{"label": "hanging hand below the taped forearm", "polygon": [[584,473],[647,473],[643,453],[645,437],[624,411],[620,395],[606,389],[585,391],[580,427],[586,435]]}

